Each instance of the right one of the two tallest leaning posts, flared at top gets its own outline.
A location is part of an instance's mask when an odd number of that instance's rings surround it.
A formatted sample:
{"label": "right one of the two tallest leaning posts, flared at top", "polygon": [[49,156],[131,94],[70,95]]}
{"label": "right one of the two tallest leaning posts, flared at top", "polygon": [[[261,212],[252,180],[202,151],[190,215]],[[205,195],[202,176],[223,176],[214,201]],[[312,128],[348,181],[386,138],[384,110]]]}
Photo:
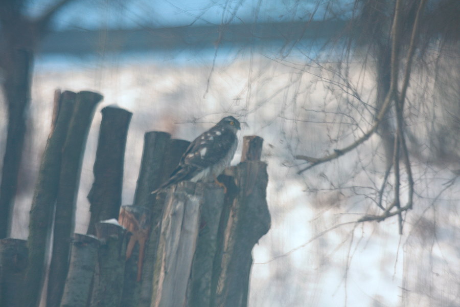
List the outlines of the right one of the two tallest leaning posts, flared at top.
{"label": "right one of the two tallest leaning posts, flared at top", "polygon": [[81,174],[81,161],[95,108],[101,99],[102,95],[93,92],[77,94],[74,112],[64,143],[56,200],[47,307],[57,307],[61,301],[68,269],[69,239],[74,231],[75,204]]}

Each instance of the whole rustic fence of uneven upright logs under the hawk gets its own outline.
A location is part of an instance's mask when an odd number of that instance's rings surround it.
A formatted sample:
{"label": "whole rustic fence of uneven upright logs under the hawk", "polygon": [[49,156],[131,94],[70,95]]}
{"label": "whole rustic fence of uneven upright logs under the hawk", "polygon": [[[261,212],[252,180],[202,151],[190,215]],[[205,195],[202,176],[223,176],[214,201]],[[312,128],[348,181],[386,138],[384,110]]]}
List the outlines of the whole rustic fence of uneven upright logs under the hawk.
{"label": "whole rustic fence of uneven upright logs under the hawk", "polygon": [[[241,162],[215,184],[182,182],[152,194],[189,142],[145,134],[132,205],[121,206],[131,113],[102,109],[86,234],[74,231],[86,139],[102,96],[57,92],[35,188],[28,240],[0,240],[0,306],[239,307],[251,250],[270,228],[263,140],[244,137]],[[224,192],[225,190],[225,192]]]}

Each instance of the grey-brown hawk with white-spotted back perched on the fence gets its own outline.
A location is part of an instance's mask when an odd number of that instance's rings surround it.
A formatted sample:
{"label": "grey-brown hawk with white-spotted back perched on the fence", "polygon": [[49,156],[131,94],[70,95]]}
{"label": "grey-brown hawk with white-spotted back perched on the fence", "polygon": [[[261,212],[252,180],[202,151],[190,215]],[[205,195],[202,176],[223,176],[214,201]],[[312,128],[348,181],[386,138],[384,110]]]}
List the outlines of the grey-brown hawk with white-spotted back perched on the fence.
{"label": "grey-brown hawk with white-spotted back perched on the fence", "polygon": [[169,179],[152,193],[181,181],[215,181],[219,184],[217,176],[230,165],[235,155],[238,147],[237,132],[240,129],[240,122],[235,117],[222,118],[190,143]]}

